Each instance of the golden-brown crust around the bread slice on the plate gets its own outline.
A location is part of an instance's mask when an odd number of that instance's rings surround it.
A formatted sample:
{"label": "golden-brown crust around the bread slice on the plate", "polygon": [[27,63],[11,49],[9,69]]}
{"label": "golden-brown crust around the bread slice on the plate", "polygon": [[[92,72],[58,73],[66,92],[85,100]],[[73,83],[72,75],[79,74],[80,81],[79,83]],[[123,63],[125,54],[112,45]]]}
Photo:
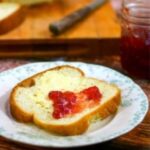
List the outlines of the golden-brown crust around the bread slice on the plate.
{"label": "golden-brown crust around the bread slice on the plate", "polygon": [[78,134],[84,133],[87,130],[87,128],[89,127],[89,121],[93,118],[93,116],[98,116],[98,118],[105,119],[111,114],[114,114],[115,112],[117,112],[118,106],[120,105],[120,102],[121,102],[121,94],[120,94],[121,92],[119,88],[116,87],[115,85],[112,85],[112,86],[115,86],[115,88],[117,88],[118,90],[117,90],[117,94],[114,97],[112,97],[110,100],[100,105],[100,107],[98,107],[92,113],[87,114],[84,117],[80,118],[79,120],[70,124],[64,124],[64,125],[47,124],[45,122],[42,122],[38,118],[36,118],[35,115],[25,112],[17,105],[16,100],[15,100],[15,93],[18,87],[27,86],[30,84],[32,85],[33,78],[39,75],[42,75],[43,73],[47,71],[59,70],[59,69],[62,69],[63,67],[77,69],[80,72],[81,76],[84,76],[84,73],[82,72],[82,70],[72,67],[72,66],[65,65],[65,66],[58,66],[52,69],[48,69],[46,71],[38,73],[20,82],[14,87],[10,95],[10,110],[14,118],[16,118],[20,122],[33,122],[37,126],[44,128],[45,130],[49,132],[54,132],[54,133],[61,134],[61,135],[78,135]]}

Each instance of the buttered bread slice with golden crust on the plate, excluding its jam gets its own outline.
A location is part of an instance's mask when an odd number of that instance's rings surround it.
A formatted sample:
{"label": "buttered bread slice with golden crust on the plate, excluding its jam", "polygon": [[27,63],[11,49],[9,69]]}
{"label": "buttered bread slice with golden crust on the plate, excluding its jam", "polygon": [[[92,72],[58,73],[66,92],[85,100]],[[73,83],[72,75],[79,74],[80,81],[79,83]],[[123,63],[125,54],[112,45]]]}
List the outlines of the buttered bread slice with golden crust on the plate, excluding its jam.
{"label": "buttered bread slice with golden crust on the plate, excluding its jam", "polygon": [[[102,93],[100,102],[80,113],[60,119],[52,116],[53,101],[50,91],[72,91],[78,93],[88,87],[97,86]],[[10,110],[21,122],[34,122],[37,126],[61,135],[84,133],[93,118],[105,119],[114,114],[120,104],[120,90],[105,81],[85,77],[72,66],[58,66],[38,73],[17,84],[10,95]]]}

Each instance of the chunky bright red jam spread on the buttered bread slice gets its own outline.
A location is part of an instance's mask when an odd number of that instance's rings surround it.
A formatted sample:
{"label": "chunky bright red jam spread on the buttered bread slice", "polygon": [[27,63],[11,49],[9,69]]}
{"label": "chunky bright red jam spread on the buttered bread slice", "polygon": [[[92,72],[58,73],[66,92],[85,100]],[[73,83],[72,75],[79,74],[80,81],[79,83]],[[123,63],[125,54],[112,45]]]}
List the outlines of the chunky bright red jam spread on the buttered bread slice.
{"label": "chunky bright red jam spread on the buttered bread slice", "polygon": [[79,93],[51,91],[48,96],[53,101],[53,117],[60,119],[97,105],[102,94],[96,86],[92,86]]}

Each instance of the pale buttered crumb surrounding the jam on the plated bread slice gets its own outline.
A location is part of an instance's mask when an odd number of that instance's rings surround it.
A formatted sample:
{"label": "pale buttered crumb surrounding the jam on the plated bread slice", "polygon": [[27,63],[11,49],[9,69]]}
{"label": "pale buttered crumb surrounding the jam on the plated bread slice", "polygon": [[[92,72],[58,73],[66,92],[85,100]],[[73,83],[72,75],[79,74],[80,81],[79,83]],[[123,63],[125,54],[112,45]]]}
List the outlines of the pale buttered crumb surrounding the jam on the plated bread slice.
{"label": "pale buttered crumb surrounding the jam on the plated bread slice", "polygon": [[[17,104],[28,113],[46,124],[68,124],[72,123],[85,114],[91,113],[100,105],[109,101],[117,94],[116,87],[93,78],[86,78],[81,73],[71,69],[61,71],[51,70],[38,75],[33,79],[34,84],[30,87],[19,86],[15,93]],[[62,119],[52,117],[53,103],[48,98],[48,93],[54,90],[80,92],[81,90],[97,86],[102,93],[102,99],[98,106],[92,109],[85,109],[83,112]]]}

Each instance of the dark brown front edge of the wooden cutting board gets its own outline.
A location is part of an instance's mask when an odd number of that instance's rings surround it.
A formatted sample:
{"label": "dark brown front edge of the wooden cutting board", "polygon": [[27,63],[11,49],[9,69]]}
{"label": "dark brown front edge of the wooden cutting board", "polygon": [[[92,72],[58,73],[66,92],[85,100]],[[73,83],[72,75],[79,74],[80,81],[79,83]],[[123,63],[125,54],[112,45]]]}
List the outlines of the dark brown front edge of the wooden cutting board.
{"label": "dark brown front edge of the wooden cutting board", "polygon": [[35,58],[49,59],[58,57],[91,57],[110,55],[111,48],[119,48],[119,39],[81,40],[64,44],[41,43],[41,44],[11,44],[0,45],[0,58]]}

